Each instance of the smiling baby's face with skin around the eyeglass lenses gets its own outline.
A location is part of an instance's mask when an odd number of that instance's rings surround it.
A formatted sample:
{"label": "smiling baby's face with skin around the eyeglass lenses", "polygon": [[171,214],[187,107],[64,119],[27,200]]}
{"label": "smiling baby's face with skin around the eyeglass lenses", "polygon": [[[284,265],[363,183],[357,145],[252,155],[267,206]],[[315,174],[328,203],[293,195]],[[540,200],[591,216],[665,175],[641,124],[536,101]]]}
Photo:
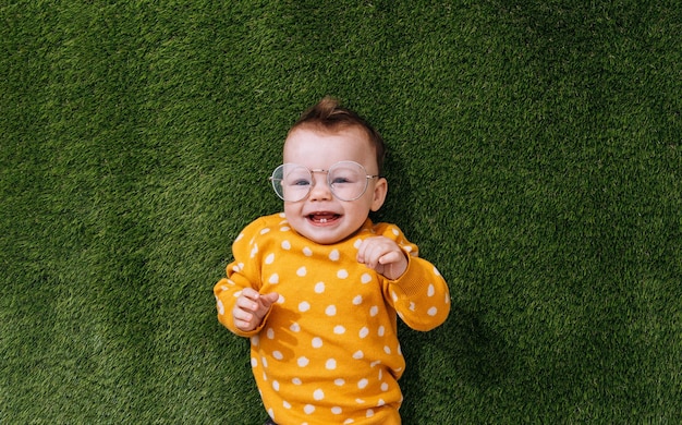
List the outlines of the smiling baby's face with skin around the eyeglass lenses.
{"label": "smiling baby's face with skin around the eyeglass lenses", "polygon": [[[378,174],[377,160],[366,133],[360,127],[329,133],[315,127],[293,130],[284,143],[284,162],[309,170],[329,170],[340,161],[362,165],[367,174]],[[290,226],[307,239],[330,244],[353,234],[365,222],[370,210],[383,204],[388,190],[386,179],[368,179],[367,190],[355,201],[333,196],[325,173],[315,172],[310,192],[299,202],[284,202]]]}

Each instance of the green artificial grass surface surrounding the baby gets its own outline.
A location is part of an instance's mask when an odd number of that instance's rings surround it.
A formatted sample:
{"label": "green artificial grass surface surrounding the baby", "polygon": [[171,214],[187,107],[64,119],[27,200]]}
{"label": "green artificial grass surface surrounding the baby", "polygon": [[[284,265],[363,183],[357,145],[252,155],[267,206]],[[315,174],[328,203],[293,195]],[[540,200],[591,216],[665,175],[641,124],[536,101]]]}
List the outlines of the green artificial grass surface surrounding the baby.
{"label": "green artificial grass surface surrounding the baby", "polygon": [[681,33],[666,0],[3,2],[0,423],[261,423],[211,289],[327,94],[453,296],[401,329],[406,424],[679,423]]}

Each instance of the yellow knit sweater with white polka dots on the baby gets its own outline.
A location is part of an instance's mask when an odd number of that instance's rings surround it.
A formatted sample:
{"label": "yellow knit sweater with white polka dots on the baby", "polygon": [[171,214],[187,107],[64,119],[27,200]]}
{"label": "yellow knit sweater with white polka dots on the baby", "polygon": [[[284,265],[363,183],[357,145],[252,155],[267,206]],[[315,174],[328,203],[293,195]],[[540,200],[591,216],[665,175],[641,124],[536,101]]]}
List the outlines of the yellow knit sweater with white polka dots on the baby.
{"label": "yellow knit sweater with white polka dots on the baby", "polygon": [[[383,235],[409,253],[407,270],[388,280],[355,259],[360,242]],[[280,425],[400,424],[398,379],[405,362],[395,316],[429,330],[450,312],[448,286],[418,258],[400,229],[367,219],[349,239],[318,245],[283,214],[261,217],[235,240],[234,262],[215,287],[218,319],[251,338],[251,365],[264,405]],[[242,289],[278,292],[261,326],[243,332],[232,308]]]}

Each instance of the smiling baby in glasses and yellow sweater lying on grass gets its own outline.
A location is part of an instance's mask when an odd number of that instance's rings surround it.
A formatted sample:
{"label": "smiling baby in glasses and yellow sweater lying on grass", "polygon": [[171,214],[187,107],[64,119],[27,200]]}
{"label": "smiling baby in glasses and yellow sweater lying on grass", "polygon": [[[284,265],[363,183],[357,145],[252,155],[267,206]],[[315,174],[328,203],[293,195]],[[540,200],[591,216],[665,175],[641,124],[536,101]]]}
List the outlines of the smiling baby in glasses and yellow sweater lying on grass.
{"label": "smiling baby in glasses and yellow sweater lying on grass", "polygon": [[400,424],[397,316],[430,330],[448,286],[391,223],[381,136],[325,98],[289,131],[270,181],[284,212],[248,224],[215,289],[218,319],[251,338],[267,424]]}

